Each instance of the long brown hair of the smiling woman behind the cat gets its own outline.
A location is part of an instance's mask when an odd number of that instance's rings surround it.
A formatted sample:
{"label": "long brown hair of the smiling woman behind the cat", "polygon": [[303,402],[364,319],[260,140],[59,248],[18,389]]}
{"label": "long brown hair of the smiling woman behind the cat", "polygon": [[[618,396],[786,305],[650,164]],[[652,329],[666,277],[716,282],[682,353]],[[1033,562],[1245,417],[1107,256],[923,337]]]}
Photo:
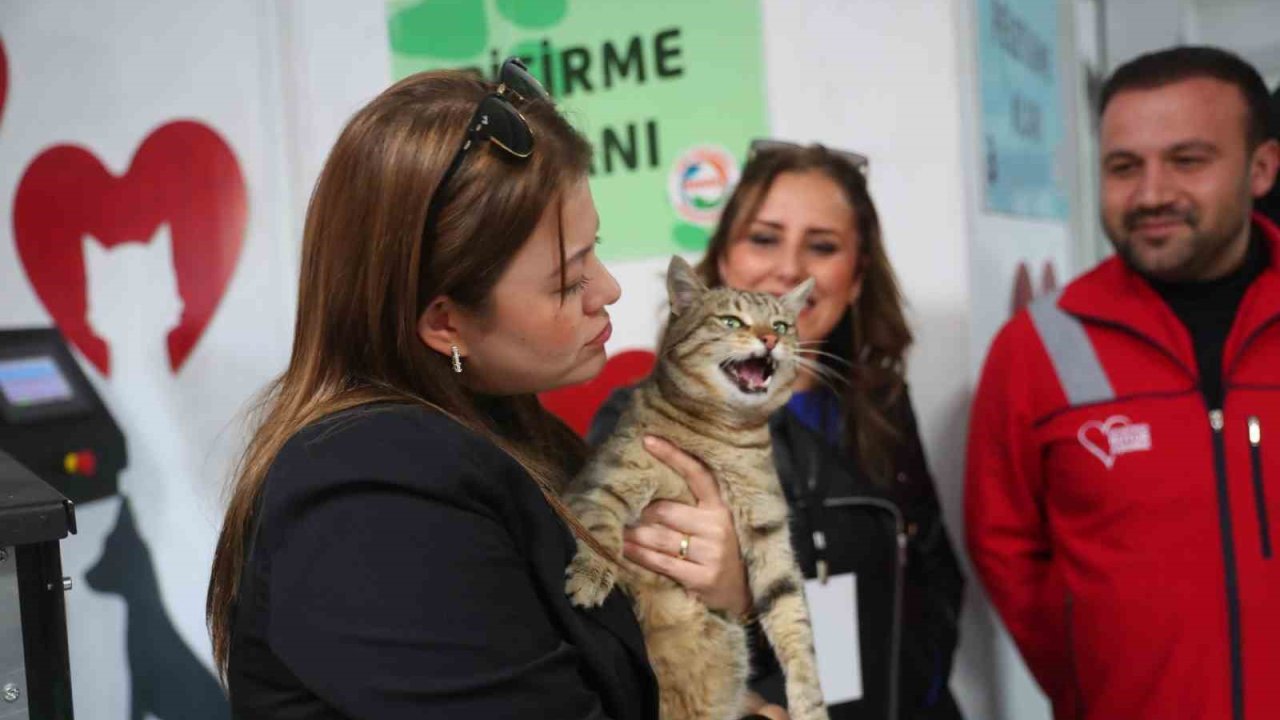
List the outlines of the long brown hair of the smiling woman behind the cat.
{"label": "long brown hair of the smiling woman behind the cat", "polygon": [[746,233],[773,181],[782,173],[808,172],[831,178],[854,210],[863,290],[823,341],[822,350],[838,360],[823,356],[822,363],[849,378],[844,388],[836,388],[842,395],[845,443],[856,452],[863,469],[883,483],[893,471],[893,454],[904,439],[901,418],[893,416],[892,409],[905,386],[905,355],[911,345],[911,331],[902,313],[897,278],[884,252],[879,215],[867,190],[867,177],[819,145],[760,152],[742,169],[742,178],[724,205],[698,273],[708,286],[723,284],[719,261],[730,243]]}

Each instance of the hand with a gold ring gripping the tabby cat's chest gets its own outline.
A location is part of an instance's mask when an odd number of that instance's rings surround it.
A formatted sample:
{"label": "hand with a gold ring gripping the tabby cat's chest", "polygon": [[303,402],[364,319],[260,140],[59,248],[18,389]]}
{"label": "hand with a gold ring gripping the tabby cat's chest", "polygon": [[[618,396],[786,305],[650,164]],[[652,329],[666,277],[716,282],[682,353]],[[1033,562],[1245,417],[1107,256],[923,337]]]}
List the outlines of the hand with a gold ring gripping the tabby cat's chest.
{"label": "hand with a gold ring gripping the tabby cat's chest", "polygon": [[[664,439],[649,436],[644,446],[685,478],[696,505],[669,500],[649,503],[640,520],[623,533],[623,556],[676,580],[712,610],[745,615],[751,609],[746,564],[733,530],[733,516],[721,498],[716,478],[694,456]],[[689,542],[681,559],[680,546],[686,537]]]}

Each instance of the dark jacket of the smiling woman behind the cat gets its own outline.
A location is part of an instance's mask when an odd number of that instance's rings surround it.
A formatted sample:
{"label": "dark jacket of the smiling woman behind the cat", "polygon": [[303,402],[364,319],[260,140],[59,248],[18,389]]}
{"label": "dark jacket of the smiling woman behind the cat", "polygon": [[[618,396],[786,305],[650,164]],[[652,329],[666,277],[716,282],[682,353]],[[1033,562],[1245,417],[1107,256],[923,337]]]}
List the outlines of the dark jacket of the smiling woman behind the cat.
{"label": "dark jacket of the smiling woman behind the cat", "polygon": [[[600,407],[588,442],[608,437],[630,393],[616,391]],[[814,529],[826,536],[829,574],[852,571],[858,578],[864,696],[832,706],[832,720],[891,717],[891,698],[897,700],[899,719],[960,717],[947,679],[964,577],[942,527],[905,392],[892,413],[905,442],[888,487],[872,482],[855,457],[791,411],[782,409],[769,420],[774,465],[791,505],[791,541],[805,578],[817,577]],[[756,643],[753,665],[753,688],[783,703],[782,676],[765,643]]]}

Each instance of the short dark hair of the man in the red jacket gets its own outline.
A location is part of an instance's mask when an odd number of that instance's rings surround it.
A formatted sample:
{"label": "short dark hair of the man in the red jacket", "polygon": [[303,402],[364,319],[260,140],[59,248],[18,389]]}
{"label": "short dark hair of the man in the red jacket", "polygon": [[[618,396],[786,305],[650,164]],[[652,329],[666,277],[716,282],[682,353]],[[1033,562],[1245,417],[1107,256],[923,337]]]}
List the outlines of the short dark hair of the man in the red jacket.
{"label": "short dark hair of the man in the red jacket", "polygon": [[1112,97],[1126,90],[1152,90],[1201,77],[1219,79],[1240,90],[1248,109],[1245,140],[1251,150],[1268,137],[1275,137],[1271,99],[1262,76],[1239,55],[1220,47],[1170,47],[1129,60],[1116,68],[1103,83],[1098,115],[1106,111]]}

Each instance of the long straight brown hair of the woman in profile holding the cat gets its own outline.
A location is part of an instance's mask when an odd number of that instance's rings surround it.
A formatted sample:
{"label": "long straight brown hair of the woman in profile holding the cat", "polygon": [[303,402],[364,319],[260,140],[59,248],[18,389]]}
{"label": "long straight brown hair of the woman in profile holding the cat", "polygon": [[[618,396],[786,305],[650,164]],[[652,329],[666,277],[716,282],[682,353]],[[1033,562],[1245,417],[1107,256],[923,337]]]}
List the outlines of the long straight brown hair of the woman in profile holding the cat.
{"label": "long straight brown hair of the woman in profile holding the cat", "polygon": [[[257,404],[257,427],[232,478],[210,573],[205,611],[223,676],[268,470],[291,437],[334,413],[402,402],[452,416],[518,460],[573,533],[591,543],[557,496],[585,456],[582,441],[534,396],[498,400],[502,413],[481,411],[449,359],[417,334],[424,299],[448,296],[484,311],[543,211],[590,164],[590,146],[549,102],[521,101],[535,137],[532,155],[516,160],[488,143],[472,147],[447,186],[433,237],[424,240],[431,193],[480,99],[492,91],[458,72],[401,81],[352,117],[316,181],[302,238],[292,357]],[[563,251],[562,245],[562,259]],[[498,428],[492,415],[511,420]]]}

